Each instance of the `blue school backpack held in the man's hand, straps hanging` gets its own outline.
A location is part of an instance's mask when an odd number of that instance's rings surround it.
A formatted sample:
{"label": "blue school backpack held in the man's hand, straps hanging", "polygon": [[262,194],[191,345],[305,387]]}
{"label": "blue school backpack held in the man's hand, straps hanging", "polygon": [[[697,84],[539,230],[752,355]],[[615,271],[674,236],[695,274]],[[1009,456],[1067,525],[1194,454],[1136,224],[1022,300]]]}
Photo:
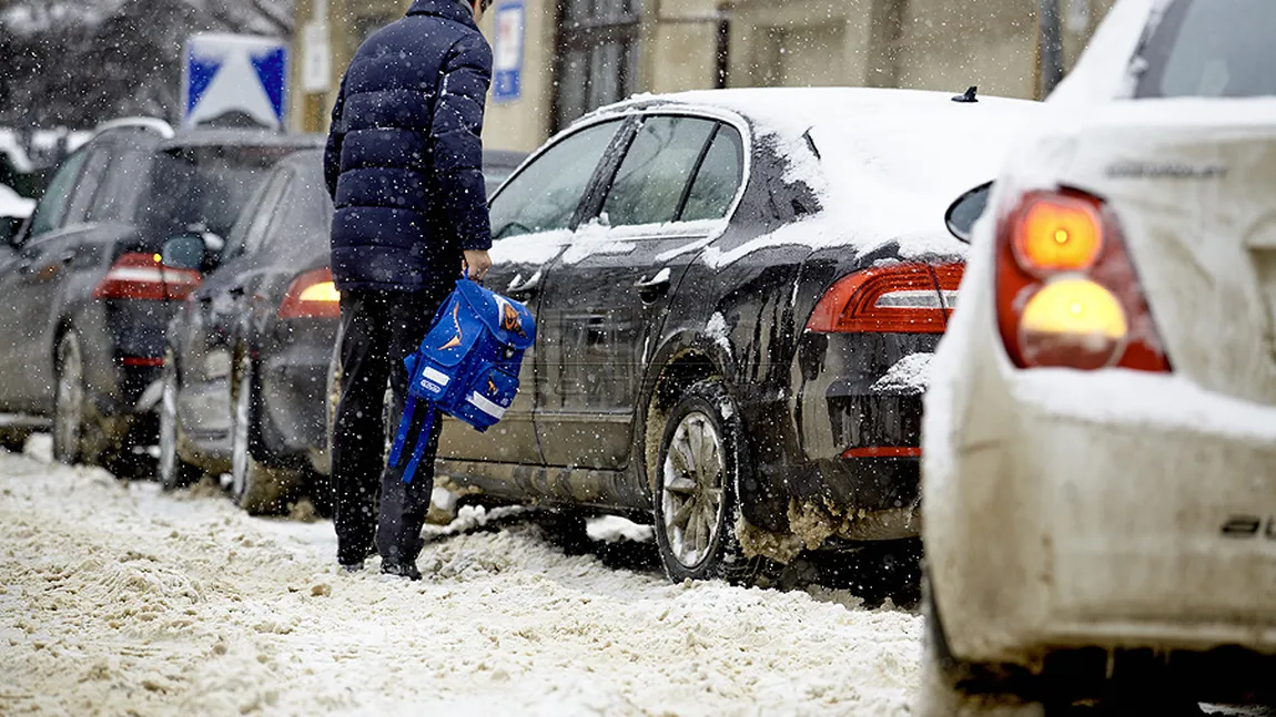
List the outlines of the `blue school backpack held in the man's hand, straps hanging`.
{"label": "blue school backpack held in the man's hand, straps hanging", "polygon": [[523,353],[536,341],[536,320],[526,306],[490,292],[470,279],[457,288],[435,315],[415,354],[403,359],[411,377],[403,401],[389,462],[397,466],[412,425],[417,401],[430,411],[403,470],[411,483],[425,455],[434,424],[434,409],[461,419],[477,430],[491,428],[505,415],[518,394]]}

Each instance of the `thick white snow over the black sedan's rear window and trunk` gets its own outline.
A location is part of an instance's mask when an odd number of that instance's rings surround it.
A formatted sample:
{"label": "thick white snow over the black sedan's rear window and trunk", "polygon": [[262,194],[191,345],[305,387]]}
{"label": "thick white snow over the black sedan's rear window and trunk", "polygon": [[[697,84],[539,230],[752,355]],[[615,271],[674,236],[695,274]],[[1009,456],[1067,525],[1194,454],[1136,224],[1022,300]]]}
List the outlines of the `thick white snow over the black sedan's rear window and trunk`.
{"label": "thick white snow over the black sedan's rear window and trunk", "polygon": [[[962,88],[965,89],[965,88]],[[745,89],[690,92],[672,102],[708,104],[749,120],[755,141],[787,159],[785,180],[805,183],[822,210],[727,252],[711,265],[763,247],[850,246],[865,253],[900,243],[903,259],[963,256],[944,227],[962,192],[990,181],[1039,103],[898,89]]]}

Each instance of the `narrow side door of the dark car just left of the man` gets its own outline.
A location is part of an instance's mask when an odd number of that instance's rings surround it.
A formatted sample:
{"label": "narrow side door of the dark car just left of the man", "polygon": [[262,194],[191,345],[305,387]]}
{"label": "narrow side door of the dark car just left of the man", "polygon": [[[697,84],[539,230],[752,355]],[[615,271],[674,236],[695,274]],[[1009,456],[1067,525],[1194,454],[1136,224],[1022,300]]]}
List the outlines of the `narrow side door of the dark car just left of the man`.
{"label": "narrow side door of the dark car just left of the man", "polygon": [[239,303],[251,281],[254,253],[277,211],[291,172],[278,169],[231,229],[223,260],[191,293],[186,335],[179,345],[177,416],[191,434],[208,441],[230,436],[230,374]]}

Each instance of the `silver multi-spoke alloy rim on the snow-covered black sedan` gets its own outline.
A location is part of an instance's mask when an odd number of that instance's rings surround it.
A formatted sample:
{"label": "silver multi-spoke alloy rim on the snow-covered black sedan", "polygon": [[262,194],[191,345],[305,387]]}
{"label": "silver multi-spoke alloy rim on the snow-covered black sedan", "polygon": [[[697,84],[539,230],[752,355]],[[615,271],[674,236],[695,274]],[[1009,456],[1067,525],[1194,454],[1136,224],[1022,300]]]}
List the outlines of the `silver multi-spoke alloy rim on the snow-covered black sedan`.
{"label": "silver multi-spoke alloy rim on the snow-covered black sedan", "polygon": [[686,414],[661,466],[661,513],[674,558],[688,568],[712,550],[722,522],[722,439],[704,414]]}

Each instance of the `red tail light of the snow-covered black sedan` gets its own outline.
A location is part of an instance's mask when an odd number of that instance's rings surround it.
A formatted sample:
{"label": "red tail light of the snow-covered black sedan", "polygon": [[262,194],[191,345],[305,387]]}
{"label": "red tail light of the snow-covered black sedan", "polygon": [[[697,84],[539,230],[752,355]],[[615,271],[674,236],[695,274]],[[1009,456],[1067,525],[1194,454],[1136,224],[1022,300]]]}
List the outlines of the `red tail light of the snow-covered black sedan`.
{"label": "red tail light of the snow-covered black sedan", "polygon": [[896,264],[849,274],[815,304],[818,334],[943,334],[961,284],[960,264]]}

